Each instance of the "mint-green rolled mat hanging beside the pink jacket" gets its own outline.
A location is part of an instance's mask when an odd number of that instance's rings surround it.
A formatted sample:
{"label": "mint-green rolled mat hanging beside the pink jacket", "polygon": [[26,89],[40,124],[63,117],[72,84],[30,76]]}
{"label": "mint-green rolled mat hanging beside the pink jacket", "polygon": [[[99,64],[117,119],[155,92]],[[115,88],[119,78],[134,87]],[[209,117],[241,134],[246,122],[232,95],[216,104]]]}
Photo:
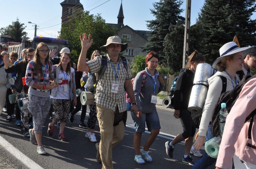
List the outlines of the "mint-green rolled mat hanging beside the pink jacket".
{"label": "mint-green rolled mat hanging beside the pink jacket", "polygon": [[212,158],[217,158],[219,146],[221,145],[221,137],[214,137],[205,143],[205,151]]}

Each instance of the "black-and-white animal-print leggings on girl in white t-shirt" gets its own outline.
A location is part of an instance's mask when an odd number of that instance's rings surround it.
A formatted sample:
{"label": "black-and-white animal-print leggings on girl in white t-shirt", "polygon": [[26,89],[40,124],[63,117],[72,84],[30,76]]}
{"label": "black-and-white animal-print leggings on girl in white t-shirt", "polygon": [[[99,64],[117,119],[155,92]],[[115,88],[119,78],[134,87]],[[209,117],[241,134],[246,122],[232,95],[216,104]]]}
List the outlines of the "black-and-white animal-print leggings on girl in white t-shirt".
{"label": "black-and-white animal-print leggings on girl in white t-shirt", "polygon": [[67,123],[70,113],[70,99],[52,99],[53,108],[55,109],[54,121],[60,121],[60,123]]}

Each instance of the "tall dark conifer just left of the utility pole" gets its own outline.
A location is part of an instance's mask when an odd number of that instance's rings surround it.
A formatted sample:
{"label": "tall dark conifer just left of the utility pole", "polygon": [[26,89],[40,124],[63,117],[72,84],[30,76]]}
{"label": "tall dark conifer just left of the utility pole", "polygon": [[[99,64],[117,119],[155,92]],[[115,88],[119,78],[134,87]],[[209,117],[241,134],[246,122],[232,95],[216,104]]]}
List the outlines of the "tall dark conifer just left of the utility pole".
{"label": "tall dark conifer just left of the utility pole", "polygon": [[172,31],[170,26],[178,22],[185,24],[185,18],[181,16],[182,3],[182,0],[160,0],[153,3],[154,10],[150,11],[156,19],[147,21],[147,27],[152,32],[148,34],[148,43],[142,48],[144,52],[154,51],[159,54],[161,60],[165,58],[163,42],[165,36]]}

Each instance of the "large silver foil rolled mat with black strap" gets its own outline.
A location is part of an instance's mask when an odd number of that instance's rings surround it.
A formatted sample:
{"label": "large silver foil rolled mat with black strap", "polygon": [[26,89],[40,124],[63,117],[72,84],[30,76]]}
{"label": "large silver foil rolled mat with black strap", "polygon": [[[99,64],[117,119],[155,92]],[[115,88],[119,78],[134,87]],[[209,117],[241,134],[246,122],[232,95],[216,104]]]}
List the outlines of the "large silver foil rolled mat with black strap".
{"label": "large silver foil rolled mat with black strap", "polygon": [[194,85],[191,90],[190,99],[188,103],[188,110],[190,112],[200,113],[203,111],[205,99],[208,92],[208,78],[211,77],[212,67],[208,63],[200,63],[197,65]]}

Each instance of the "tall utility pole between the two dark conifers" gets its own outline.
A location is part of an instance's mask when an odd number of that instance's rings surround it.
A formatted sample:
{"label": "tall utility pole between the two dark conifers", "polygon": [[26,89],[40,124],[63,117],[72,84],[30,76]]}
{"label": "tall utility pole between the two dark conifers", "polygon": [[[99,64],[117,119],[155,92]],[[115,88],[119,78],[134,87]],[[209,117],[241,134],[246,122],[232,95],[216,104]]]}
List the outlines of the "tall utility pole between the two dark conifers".
{"label": "tall utility pole between the two dark conifers", "polygon": [[184,33],[182,68],[185,68],[186,59],[189,55],[190,13],[191,13],[191,0],[187,0],[187,2],[186,2],[186,18],[185,18],[185,33]]}

